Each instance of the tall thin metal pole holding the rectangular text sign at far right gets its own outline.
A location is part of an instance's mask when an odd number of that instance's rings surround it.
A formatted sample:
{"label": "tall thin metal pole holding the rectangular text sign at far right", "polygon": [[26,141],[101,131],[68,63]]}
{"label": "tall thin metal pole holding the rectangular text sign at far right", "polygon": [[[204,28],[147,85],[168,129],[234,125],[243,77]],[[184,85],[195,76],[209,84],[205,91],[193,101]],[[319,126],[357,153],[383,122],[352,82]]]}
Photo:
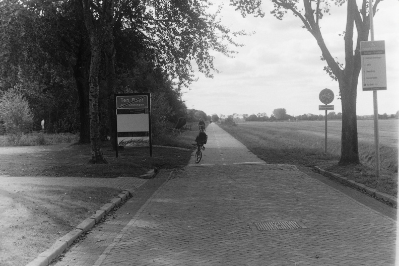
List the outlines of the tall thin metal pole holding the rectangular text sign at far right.
{"label": "tall thin metal pole holding the rectangular text sign at far right", "polygon": [[[374,41],[374,25],[373,25],[373,6],[372,0],[369,0],[369,17],[370,17],[370,37]],[[373,104],[374,104],[374,144],[375,144],[375,176],[380,176],[380,154],[379,154],[379,134],[378,134],[378,101],[377,91],[373,90]]]}

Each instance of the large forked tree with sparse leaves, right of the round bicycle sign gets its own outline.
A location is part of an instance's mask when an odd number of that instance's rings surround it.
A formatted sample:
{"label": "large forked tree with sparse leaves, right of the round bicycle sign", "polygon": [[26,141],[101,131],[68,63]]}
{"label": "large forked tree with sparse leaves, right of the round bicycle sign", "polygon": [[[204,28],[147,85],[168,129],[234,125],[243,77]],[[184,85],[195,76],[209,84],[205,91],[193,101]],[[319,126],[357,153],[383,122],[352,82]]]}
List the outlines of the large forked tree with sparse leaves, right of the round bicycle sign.
{"label": "large forked tree with sparse leaves, right of the round bicycle sign", "polygon": [[[358,164],[358,132],[356,120],[356,97],[359,74],[361,70],[360,42],[367,41],[370,30],[370,14],[368,13],[368,0],[361,0],[359,8],[356,0],[335,0],[338,6],[346,5],[347,18],[345,28],[345,63],[338,62],[324,42],[320,30],[320,20],[325,13],[330,12],[330,0],[271,0],[274,10],[271,11],[277,19],[282,20],[291,12],[303,24],[317,41],[320,47],[322,60],[327,66],[324,70],[339,83],[342,102],[342,139],[341,159],[339,165]],[[375,0],[373,14],[381,0]],[[242,1],[231,0],[233,6],[246,13],[261,13],[261,2],[258,0]],[[355,33],[356,30],[356,34]],[[355,39],[356,38],[356,39]],[[355,40],[354,40],[355,39]]]}

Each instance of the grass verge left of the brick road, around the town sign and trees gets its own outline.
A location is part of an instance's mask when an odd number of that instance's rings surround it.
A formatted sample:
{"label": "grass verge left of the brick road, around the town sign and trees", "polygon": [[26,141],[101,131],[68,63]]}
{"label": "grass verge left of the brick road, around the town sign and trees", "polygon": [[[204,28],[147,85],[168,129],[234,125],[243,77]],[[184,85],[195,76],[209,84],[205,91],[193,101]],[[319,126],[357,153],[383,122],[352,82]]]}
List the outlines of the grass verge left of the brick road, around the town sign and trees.
{"label": "grass verge left of the brick road, around the town sign and trees", "polygon": [[[153,144],[157,146],[153,147],[152,157],[149,148],[125,148],[115,158],[110,143],[104,142],[102,150],[108,164],[103,165],[88,164],[90,145],[63,143],[0,147],[0,265],[26,265],[120,192],[96,186],[95,182],[93,186],[59,186],[39,184],[34,178],[29,178],[33,181],[21,182],[24,177],[112,179],[139,176],[150,169],[158,172],[160,169],[178,168],[188,163],[196,135],[196,131],[186,131],[155,140]],[[56,136],[43,137],[46,143],[48,140],[52,143],[59,141]],[[37,139],[37,135],[25,136],[24,139],[34,145],[32,140]],[[54,178],[51,180],[56,182]]]}

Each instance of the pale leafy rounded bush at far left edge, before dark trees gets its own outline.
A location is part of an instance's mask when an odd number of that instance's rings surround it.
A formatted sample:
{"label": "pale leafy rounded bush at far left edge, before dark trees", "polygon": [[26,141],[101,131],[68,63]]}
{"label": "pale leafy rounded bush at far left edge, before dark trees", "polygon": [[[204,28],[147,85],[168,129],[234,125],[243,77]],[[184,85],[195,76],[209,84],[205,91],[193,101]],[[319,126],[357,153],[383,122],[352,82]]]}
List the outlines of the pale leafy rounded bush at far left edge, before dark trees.
{"label": "pale leafy rounded bush at far left edge, before dark trees", "polygon": [[0,98],[0,119],[7,134],[21,135],[31,129],[33,113],[20,91],[10,89]]}

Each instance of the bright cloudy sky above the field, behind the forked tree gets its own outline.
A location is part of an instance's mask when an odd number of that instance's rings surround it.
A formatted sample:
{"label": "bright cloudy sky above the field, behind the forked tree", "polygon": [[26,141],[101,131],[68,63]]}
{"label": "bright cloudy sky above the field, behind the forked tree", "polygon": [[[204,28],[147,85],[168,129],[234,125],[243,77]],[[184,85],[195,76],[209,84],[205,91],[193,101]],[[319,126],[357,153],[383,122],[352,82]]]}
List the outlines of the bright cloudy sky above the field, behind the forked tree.
{"label": "bright cloudy sky above the field, behind the forked tree", "polygon": [[[324,72],[325,62],[320,60],[321,51],[314,37],[305,29],[299,18],[287,15],[282,21],[270,14],[273,6],[263,1],[263,18],[247,16],[224,3],[222,22],[232,30],[255,31],[252,36],[240,36],[243,47],[234,58],[217,52],[214,65],[220,73],[214,78],[195,72],[198,81],[183,89],[183,101],[187,108],[206,112],[208,115],[223,114],[273,114],[277,108],[285,108],[287,114],[324,114],[319,111],[318,96],[328,88],[336,95],[334,112],[342,112],[338,99],[338,82]],[[359,1],[358,1],[359,5]],[[395,114],[399,110],[399,1],[385,0],[379,4],[374,16],[374,40],[385,41],[387,90],[377,91],[378,113]],[[320,20],[324,41],[334,57],[345,62],[344,38],[346,4],[331,6],[330,16]],[[370,37],[369,37],[370,40]],[[355,39],[356,41],[356,39]],[[357,89],[357,114],[374,113],[373,92],[363,91],[361,76]]]}

